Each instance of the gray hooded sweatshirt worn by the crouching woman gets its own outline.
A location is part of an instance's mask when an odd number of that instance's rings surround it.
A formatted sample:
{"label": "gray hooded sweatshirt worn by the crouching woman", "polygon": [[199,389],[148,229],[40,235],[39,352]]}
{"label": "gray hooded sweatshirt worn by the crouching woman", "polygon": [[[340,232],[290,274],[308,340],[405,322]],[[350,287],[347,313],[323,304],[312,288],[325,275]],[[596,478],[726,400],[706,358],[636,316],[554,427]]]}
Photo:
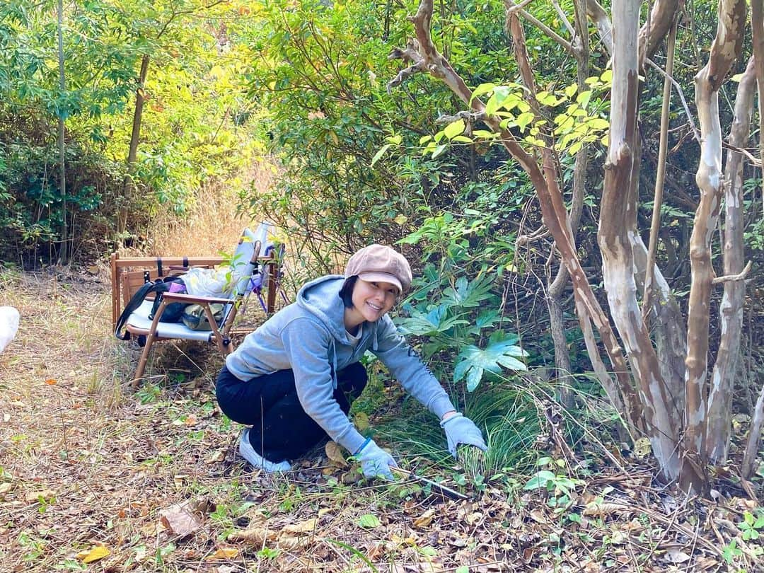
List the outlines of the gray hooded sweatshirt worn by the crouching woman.
{"label": "gray hooded sweatshirt worn by the crouching woman", "polygon": [[336,373],[371,350],[403,388],[438,418],[454,410],[448,394],[406,344],[385,315],[362,324],[361,340],[351,345],[345,330],[345,305],[339,296],[345,277],[329,275],[306,283],[296,303],[286,306],[252,332],[225,365],[239,380],[291,368],[303,410],[348,452],[358,451],[364,436],[334,399]]}

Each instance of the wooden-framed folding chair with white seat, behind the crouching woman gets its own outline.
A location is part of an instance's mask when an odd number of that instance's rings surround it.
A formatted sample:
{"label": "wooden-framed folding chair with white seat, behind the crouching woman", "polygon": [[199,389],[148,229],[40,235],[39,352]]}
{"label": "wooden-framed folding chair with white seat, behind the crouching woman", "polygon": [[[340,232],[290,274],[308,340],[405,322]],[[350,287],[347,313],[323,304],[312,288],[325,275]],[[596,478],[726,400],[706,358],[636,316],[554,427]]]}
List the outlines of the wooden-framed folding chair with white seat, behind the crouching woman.
{"label": "wooden-framed folding chair with white seat, behind the crouching woman", "polygon": [[[213,343],[222,354],[231,352],[231,326],[238,313],[239,306],[245,296],[252,291],[252,285],[257,284],[257,296],[261,299],[264,312],[270,315],[275,306],[277,280],[280,277],[280,253],[268,241],[267,235],[270,224],[262,223],[256,231],[244,229],[231,261],[224,257],[132,257],[120,258],[112,254],[112,329],[117,325],[121,309],[125,308],[131,296],[145,282],[180,274],[190,267],[215,267],[222,263],[230,265],[232,280],[235,286],[230,296],[195,296],[186,293],[162,293],[157,311],[153,318],[151,309],[154,301],[145,299],[128,316],[125,322],[125,338],[138,337],[139,343],[145,340],[141,358],[138,361],[132,387],[138,387],[144,375],[151,346],[157,340],[180,339]],[[264,247],[265,245],[265,247]],[[267,255],[261,257],[261,252]],[[128,270],[141,267],[140,270]],[[265,289],[265,299],[262,290]],[[183,322],[161,322],[160,318],[170,303],[198,304],[203,307],[205,315],[212,327],[210,331],[189,329]],[[215,320],[210,308],[212,304],[222,304],[222,316]]]}

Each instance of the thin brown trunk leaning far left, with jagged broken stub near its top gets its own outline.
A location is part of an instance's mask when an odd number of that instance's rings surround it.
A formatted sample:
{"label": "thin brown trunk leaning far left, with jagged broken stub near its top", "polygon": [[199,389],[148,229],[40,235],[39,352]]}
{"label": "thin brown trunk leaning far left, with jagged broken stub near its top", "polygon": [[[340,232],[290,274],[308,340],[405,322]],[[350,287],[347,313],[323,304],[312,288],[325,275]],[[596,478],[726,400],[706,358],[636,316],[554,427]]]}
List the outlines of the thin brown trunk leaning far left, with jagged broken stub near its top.
{"label": "thin brown trunk leaning far left, with jagged broken stub near its top", "polygon": [[618,388],[623,394],[626,419],[633,427],[637,427],[641,417],[641,406],[631,386],[628,367],[617,338],[610,327],[607,315],[594,297],[584,270],[581,268],[581,262],[578,261],[575,245],[571,239],[570,222],[565,209],[565,202],[563,202],[557,186],[557,172],[551,153],[547,150],[547,153],[542,155],[542,169],[539,169],[536,157],[523,150],[513,134],[501,128],[499,118],[485,115],[484,102],[480,98],[471,99],[472,92],[464,80],[458,76],[448,60],[445,60],[435,45],[432,44],[430,37],[431,18],[432,0],[422,0],[416,15],[412,18],[417,40],[410,42],[405,50],[396,49],[390,53],[390,58],[400,58],[411,63],[411,65],[405,70],[401,70],[396,78],[388,83],[388,89],[400,85],[414,73],[430,73],[441,79],[452,92],[458,95],[462,102],[469,105],[471,110],[480,115],[491,129],[500,134],[500,141],[512,157],[520,163],[520,167],[528,174],[534,189],[536,189],[544,224],[552,237],[555,238],[555,244],[562,254],[568,273],[571,275],[576,303],[586,309],[600,332],[604,347],[613,365],[613,371],[617,376]]}

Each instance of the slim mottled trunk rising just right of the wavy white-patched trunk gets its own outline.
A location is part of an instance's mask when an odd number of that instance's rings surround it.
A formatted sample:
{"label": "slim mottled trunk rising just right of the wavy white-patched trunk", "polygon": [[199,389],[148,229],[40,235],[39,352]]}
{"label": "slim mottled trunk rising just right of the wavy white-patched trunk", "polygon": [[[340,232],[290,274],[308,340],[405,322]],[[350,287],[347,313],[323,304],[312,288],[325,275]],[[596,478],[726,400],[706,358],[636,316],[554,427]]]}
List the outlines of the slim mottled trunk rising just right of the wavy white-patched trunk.
{"label": "slim mottled trunk rising just right of the wavy white-patched trunk", "polygon": [[[748,143],[754,89],[756,69],[751,58],[737,90],[730,131],[730,144],[733,147],[746,147]],[[743,154],[727,151],[724,171],[724,274],[729,276],[743,271]],[[716,463],[727,460],[730,445],[732,394],[735,372],[739,366],[745,293],[746,283],[743,280],[728,280],[724,283],[720,306],[721,338],[708,393],[706,429],[707,456]]]}

